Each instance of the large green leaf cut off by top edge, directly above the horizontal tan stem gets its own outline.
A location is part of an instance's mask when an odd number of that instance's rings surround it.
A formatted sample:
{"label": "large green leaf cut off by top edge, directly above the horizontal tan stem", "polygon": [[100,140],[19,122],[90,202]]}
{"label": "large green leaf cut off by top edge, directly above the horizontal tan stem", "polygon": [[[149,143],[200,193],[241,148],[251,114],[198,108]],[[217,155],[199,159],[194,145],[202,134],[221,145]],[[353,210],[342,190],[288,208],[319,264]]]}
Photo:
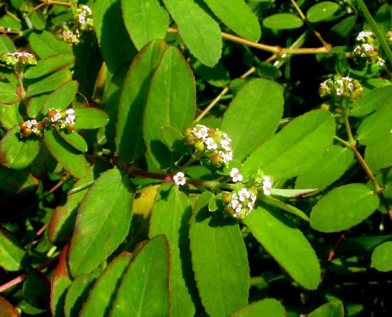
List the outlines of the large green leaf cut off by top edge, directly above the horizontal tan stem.
{"label": "large green leaf cut off by top edge, directly above the horizontal tan stem", "polygon": [[212,12],[230,29],[253,42],[260,39],[259,21],[244,0],[204,0]]}

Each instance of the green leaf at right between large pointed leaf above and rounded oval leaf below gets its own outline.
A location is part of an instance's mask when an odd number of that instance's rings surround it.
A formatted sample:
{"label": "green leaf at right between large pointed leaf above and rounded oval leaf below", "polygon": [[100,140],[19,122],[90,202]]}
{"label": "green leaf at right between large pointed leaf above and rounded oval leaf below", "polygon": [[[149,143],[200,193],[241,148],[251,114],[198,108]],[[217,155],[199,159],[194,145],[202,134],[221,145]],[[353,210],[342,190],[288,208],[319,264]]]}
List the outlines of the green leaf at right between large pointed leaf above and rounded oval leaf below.
{"label": "green leaf at right between large pointed leaf above and rounded oval leaf below", "polygon": [[348,148],[333,145],[315,165],[298,176],[295,189],[317,188],[319,191],[323,190],[344,174],[353,158],[354,153]]}

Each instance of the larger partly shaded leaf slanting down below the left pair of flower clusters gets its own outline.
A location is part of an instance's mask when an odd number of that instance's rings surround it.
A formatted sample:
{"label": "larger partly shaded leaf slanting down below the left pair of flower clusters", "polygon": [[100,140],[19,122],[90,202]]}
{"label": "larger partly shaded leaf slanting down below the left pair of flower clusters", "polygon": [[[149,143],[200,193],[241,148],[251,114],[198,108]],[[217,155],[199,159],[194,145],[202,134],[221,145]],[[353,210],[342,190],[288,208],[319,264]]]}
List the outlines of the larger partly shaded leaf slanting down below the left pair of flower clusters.
{"label": "larger partly shaded leaf slanting down below the left pair of flower clusters", "polygon": [[54,129],[45,131],[46,146],[50,154],[76,178],[86,175],[86,159],[83,154],[64,141]]}

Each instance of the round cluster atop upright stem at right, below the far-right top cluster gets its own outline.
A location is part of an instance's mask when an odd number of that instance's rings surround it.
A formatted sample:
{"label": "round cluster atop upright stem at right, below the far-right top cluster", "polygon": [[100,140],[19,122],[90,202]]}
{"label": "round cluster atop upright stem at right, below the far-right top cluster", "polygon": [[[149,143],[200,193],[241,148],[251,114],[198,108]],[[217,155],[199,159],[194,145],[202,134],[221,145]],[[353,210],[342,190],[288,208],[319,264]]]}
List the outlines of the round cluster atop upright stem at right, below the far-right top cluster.
{"label": "round cluster atop upright stem at right, below the far-right top cluster", "polygon": [[336,75],[320,84],[319,94],[321,97],[328,95],[355,100],[362,97],[362,85],[357,79]]}

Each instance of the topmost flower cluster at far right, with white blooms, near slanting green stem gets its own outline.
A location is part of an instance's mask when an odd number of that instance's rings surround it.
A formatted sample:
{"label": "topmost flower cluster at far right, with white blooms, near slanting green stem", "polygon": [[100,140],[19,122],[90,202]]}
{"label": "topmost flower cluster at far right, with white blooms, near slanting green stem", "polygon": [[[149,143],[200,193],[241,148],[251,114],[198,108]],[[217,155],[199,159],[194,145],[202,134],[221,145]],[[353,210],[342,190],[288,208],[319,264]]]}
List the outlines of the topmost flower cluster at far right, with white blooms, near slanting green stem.
{"label": "topmost flower cluster at far right, with white blooms, near slanting green stem", "polygon": [[361,31],[356,37],[357,46],[354,48],[353,57],[358,64],[377,63],[379,66],[385,64],[380,56],[378,41],[373,32]]}

